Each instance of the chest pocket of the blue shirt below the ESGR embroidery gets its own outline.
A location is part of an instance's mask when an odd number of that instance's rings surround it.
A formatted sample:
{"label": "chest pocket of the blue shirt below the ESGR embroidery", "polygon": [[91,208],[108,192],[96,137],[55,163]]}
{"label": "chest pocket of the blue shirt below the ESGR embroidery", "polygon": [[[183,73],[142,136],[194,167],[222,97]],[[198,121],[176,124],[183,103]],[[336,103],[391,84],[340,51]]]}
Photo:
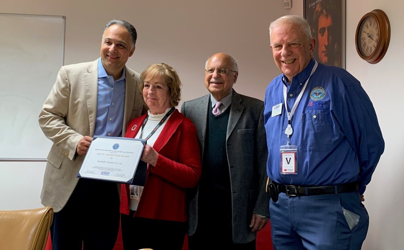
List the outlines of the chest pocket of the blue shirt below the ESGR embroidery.
{"label": "chest pocket of the blue shirt below the ESGR embroidery", "polygon": [[332,121],[329,113],[303,113],[299,131],[299,149],[326,152],[331,148]]}

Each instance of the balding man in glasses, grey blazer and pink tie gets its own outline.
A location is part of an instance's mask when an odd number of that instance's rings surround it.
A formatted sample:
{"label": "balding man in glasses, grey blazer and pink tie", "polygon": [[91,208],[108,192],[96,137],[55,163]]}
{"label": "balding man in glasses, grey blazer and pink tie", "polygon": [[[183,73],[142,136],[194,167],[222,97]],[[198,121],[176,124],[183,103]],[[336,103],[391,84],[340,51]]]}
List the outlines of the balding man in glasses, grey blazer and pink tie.
{"label": "balding man in glasses, grey blazer and pink tie", "polygon": [[196,125],[202,155],[202,177],[190,194],[189,250],[255,249],[269,219],[264,103],[232,89],[232,56],[213,55],[205,71],[210,94],[181,107]]}

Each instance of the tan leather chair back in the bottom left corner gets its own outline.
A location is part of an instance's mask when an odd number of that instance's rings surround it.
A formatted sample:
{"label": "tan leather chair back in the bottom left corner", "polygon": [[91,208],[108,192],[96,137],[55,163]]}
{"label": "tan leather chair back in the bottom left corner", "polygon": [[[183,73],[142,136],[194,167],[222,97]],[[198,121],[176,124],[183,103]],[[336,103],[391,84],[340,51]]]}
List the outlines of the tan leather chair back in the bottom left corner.
{"label": "tan leather chair back in the bottom left corner", "polygon": [[44,250],[53,208],[0,211],[0,250]]}

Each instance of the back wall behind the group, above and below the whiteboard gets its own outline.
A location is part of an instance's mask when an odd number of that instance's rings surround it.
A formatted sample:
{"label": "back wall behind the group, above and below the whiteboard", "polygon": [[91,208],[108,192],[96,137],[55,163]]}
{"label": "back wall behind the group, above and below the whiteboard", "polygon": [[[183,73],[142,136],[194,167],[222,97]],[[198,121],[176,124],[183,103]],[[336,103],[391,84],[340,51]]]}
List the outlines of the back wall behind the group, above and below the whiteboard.
{"label": "back wall behind the group, above and below the whiteboard", "polygon": [[[279,74],[267,28],[288,13],[281,0],[14,0],[0,6],[4,13],[66,16],[65,65],[98,58],[105,23],[129,21],[138,40],[128,67],[139,73],[152,63],[175,67],[182,100],[207,93],[204,62],[216,52],[239,60],[235,90],[263,100],[267,84]],[[40,207],[44,167],[45,162],[0,162],[0,210]]]}

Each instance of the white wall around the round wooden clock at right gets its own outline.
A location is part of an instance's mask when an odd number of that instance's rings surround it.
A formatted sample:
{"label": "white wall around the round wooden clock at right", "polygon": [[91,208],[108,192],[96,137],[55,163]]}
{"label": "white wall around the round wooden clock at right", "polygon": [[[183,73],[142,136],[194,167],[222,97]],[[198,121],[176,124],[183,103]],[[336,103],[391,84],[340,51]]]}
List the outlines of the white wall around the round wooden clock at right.
{"label": "white wall around the round wooden clock at right", "polygon": [[[381,9],[391,25],[391,40],[385,57],[376,65],[362,60],[355,47],[359,20],[367,12]],[[398,250],[404,248],[404,130],[401,129],[404,85],[403,72],[404,18],[403,1],[346,0],[346,69],[366,90],[375,106],[385,140],[385,152],[366,188],[364,202],[370,217],[364,250]],[[303,16],[303,0],[294,0],[290,14]]]}

